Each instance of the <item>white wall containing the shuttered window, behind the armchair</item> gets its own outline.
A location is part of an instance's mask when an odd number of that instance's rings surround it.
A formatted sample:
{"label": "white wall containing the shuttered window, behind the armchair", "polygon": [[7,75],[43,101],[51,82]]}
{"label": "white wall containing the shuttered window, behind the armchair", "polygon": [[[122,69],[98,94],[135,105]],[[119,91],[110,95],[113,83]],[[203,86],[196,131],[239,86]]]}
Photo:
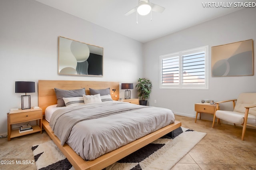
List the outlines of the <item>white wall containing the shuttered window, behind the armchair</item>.
{"label": "white wall containing the shuttered window, behind the armchair", "polygon": [[[191,28],[170,34],[163,38],[144,44],[144,75],[153,84],[149,103],[152,106],[172,109],[175,114],[195,117],[194,103],[201,99],[222,101],[236,99],[239,93],[256,92],[256,75],[241,77],[211,76],[211,47],[242,40],[256,40],[256,10],[246,8],[216,18]],[[209,89],[160,89],[159,88],[159,56],[186,49],[209,45]],[[255,54],[254,54],[255,55]],[[255,65],[255,61],[254,61]],[[156,100],[156,103],[154,103]],[[222,105],[230,109],[232,103]],[[202,118],[208,114],[202,114]],[[212,115],[208,115],[212,120]]]}

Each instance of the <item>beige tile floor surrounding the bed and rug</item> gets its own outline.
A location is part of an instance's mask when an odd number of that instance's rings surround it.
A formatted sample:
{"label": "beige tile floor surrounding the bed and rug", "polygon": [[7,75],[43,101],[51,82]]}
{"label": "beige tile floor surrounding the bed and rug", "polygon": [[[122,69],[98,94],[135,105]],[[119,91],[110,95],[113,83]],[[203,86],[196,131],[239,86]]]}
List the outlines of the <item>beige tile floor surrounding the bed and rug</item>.
{"label": "beige tile floor surrounding the bed and rug", "polygon": [[[175,118],[182,122],[182,127],[206,132],[207,135],[172,170],[256,170],[256,129],[247,128],[242,141],[242,127],[222,124],[212,128],[210,121],[194,123],[191,117],[175,115]],[[50,137],[45,131],[12,138],[10,142],[7,138],[0,138],[0,160],[15,162],[0,164],[0,169],[36,170],[35,164],[22,164],[22,160],[34,160],[31,146],[48,140]],[[21,164],[16,164],[16,160]]]}

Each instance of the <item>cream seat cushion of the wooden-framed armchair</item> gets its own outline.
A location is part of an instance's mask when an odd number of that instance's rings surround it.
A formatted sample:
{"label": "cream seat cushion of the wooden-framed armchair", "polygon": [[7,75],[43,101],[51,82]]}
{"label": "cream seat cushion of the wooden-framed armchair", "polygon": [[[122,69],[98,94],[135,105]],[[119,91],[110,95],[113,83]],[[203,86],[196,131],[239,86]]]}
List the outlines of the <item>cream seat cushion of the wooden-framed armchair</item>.
{"label": "cream seat cushion of the wooden-framed armchair", "polygon": [[[244,123],[244,113],[233,111],[216,111],[216,117],[235,124]],[[248,114],[247,125],[256,125],[256,116]]]}

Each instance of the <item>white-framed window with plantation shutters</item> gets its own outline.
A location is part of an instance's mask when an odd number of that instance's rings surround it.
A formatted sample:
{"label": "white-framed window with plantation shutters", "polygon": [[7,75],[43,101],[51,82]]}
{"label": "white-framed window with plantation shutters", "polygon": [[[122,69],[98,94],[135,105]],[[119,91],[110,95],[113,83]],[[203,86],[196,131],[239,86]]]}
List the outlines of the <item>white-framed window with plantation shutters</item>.
{"label": "white-framed window with plantation shutters", "polygon": [[160,56],[160,88],[208,89],[208,46]]}

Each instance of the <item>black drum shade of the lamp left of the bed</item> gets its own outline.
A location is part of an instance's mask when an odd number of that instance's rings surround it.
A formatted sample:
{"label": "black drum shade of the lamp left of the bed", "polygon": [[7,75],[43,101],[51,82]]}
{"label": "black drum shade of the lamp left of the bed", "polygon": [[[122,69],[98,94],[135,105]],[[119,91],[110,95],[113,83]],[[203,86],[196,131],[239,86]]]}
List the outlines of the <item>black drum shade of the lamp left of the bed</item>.
{"label": "black drum shade of the lamp left of the bed", "polygon": [[35,93],[35,82],[15,81],[15,93]]}

